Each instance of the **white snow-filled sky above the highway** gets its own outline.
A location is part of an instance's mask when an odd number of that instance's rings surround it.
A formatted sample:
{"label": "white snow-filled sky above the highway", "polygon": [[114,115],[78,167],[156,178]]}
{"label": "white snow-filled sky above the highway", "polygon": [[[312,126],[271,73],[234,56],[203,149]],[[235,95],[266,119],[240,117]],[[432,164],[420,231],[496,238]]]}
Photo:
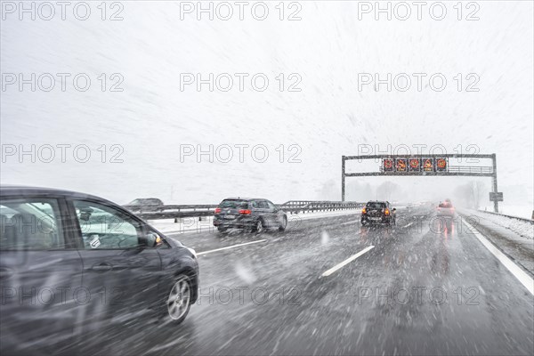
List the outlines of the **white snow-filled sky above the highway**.
{"label": "white snow-filled sky above the highway", "polygon": [[[196,8],[187,12],[197,2],[171,1],[108,3],[105,20],[101,2],[88,2],[87,20],[74,16],[76,2],[65,20],[60,7],[51,20],[44,20],[50,9],[36,7],[32,20],[18,2],[15,9],[3,2],[2,182],[81,190],[119,203],[141,197],[177,204],[227,196],[339,199],[341,156],[358,154],[359,145],[384,151],[388,144],[439,144],[449,153],[474,153],[466,150],[473,145],[497,153],[505,199],[509,190],[516,200],[524,194],[516,204],[532,205],[532,2],[464,3],[461,14],[456,1],[443,2],[443,20],[433,19],[441,16],[433,2],[421,20],[416,6],[400,20],[406,8],[392,2],[392,20],[387,13],[376,20],[375,9],[367,12],[375,2],[351,1],[287,2],[280,20],[279,2],[265,3],[265,20],[254,18],[255,2],[244,8],[243,20],[233,2],[230,20],[221,19],[228,7],[216,2],[214,20],[209,13],[198,20]],[[84,11],[78,6],[77,17]],[[122,20],[109,20],[113,14]],[[255,5],[255,16],[262,15]],[[56,80],[48,92],[44,73]],[[58,73],[69,76],[64,90]],[[199,91],[196,82],[186,84],[197,74],[208,80],[210,73],[213,92],[209,84]],[[235,73],[242,73],[242,91]],[[402,76],[392,79],[391,91],[386,84],[363,85],[363,73],[383,80],[406,73],[411,85],[401,91],[407,85]],[[425,75],[421,90],[413,73]],[[430,84],[434,89],[429,85],[433,75],[447,80],[442,91],[438,79]],[[91,85],[83,92],[85,77]],[[228,77],[233,85],[224,91]],[[260,91],[264,77],[269,84]],[[21,78],[27,83],[20,88]],[[122,91],[111,91],[113,85]],[[291,85],[300,91],[288,91]],[[35,155],[20,155],[32,145]],[[70,145],[63,146],[65,162],[58,145]],[[213,163],[209,155],[197,156],[210,145]],[[55,156],[47,163],[50,147]],[[228,147],[233,157],[225,163]],[[181,150],[195,152],[181,157]],[[394,180],[405,192],[417,190],[417,198],[467,181]]]}

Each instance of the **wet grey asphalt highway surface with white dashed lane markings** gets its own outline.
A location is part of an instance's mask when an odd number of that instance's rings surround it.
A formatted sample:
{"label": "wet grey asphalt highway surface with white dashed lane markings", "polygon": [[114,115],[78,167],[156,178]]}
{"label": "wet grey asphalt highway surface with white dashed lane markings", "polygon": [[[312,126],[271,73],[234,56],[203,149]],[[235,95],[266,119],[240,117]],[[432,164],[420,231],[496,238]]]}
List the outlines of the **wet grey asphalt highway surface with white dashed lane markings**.
{"label": "wet grey asphalt highway surface with white dashed lane markings", "polygon": [[182,325],[109,326],[80,352],[534,354],[532,295],[465,225],[446,230],[432,217],[400,211],[393,229],[361,227],[353,214],[259,236],[171,235],[198,253],[266,241],[200,254],[200,296]]}

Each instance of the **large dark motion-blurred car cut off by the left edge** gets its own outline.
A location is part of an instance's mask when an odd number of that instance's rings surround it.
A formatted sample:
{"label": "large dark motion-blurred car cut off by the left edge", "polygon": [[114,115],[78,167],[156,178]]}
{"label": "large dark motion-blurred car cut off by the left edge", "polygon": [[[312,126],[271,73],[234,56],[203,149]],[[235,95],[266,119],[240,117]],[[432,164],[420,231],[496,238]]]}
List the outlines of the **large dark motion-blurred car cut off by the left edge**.
{"label": "large dark motion-blurred car cut off by the left edge", "polygon": [[197,300],[195,251],[108,200],[1,186],[0,224],[2,352],[85,341],[116,319],[178,324]]}

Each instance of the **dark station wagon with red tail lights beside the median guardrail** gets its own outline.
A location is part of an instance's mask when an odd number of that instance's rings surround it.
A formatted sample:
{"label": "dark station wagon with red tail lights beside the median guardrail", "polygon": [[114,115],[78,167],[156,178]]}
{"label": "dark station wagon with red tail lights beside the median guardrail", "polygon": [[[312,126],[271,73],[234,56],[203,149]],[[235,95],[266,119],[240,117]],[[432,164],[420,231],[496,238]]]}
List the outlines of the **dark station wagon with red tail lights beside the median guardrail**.
{"label": "dark station wagon with red tail lights beside the median guardrail", "polygon": [[226,198],[214,211],[214,226],[220,232],[243,229],[261,233],[268,229],[285,231],[287,214],[263,198]]}

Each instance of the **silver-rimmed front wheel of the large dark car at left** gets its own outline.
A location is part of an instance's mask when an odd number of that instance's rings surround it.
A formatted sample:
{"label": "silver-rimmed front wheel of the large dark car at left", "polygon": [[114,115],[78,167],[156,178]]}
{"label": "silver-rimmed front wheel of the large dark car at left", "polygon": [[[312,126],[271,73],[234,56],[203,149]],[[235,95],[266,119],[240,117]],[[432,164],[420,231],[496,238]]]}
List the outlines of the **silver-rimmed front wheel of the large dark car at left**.
{"label": "silver-rimmed front wheel of the large dark car at left", "polygon": [[180,274],[166,299],[166,319],[180,324],[190,311],[191,281],[185,274]]}

